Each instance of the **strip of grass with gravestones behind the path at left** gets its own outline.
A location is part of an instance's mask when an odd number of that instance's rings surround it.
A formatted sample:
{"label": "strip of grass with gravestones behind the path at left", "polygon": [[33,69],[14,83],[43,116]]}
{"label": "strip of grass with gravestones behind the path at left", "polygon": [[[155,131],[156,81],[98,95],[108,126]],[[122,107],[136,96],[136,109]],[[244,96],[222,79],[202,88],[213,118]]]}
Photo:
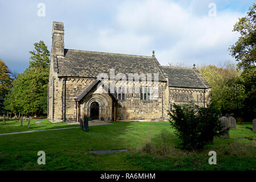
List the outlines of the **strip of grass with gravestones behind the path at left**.
{"label": "strip of grass with gravestones behind the path at left", "polygon": [[[29,120],[23,120],[23,126],[21,126],[21,122],[18,122],[18,119],[6,119],[6,125],[3,125],[3,119],[0,119],[0,134],[1,133],[12,133],[19,131],[31,131],[31,130],[45,130],[45,129],[58,129],[61,127],[74,127],[78,125],[67,125],[67,123],[51,123],[47,121],[47,119],[42,120],[42,124],[35,124],[39,119],[31,119],[30,128],[27,129],[27,124]],[[41,119],[40,119],[41,120]]]}

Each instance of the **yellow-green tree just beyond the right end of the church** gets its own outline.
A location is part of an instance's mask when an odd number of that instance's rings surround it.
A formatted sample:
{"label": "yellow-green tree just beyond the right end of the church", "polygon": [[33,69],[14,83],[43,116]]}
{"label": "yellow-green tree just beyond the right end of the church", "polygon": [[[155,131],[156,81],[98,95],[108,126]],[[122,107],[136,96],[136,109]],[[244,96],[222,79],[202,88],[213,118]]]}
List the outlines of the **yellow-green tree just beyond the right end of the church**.
{"label": "yellow-green tree just beyond the right end of the church", "polygon": [[[243,86],[243,78],[241,71],[237,69],[235,64],[226,62],[218,68],[215,65],[208,65],[201,67],[200,73],[205,80],[212,86],[212,100],[217,109],[222,113],[231,113],[243,107],[243,100],[245,100],[245,87]],[[235,93],[235,89],[239,89]],[[238,94],[238,100],[237,100]]]}

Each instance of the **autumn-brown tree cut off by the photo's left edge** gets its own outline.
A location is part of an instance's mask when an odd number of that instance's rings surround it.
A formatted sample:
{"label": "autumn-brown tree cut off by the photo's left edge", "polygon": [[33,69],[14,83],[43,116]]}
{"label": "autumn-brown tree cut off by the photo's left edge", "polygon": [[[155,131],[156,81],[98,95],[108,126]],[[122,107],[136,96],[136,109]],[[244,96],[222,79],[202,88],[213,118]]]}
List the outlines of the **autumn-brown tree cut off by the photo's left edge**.
{"label": "autumn-brown tree cut off by the photo's left edge", "polygon": [[6,64],[0,59],[0,114],[2,114],[6,95],[10,92],[13,78]]}

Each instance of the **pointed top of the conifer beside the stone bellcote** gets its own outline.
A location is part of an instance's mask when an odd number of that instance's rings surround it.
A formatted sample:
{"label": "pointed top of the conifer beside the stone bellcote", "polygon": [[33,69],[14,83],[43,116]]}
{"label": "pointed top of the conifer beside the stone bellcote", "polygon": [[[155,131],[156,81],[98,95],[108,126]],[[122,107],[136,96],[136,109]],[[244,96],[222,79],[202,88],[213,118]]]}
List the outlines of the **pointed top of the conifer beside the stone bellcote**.
{"label": "pointed top of the conifer beside the stone bellcote", "polygon": [[39,43],[34,43],[35,50],[30,51],[30,65],[29,68],[35,68],[35,72],[38,69],[48,68],[50,64],[50,51],[42,40]]}

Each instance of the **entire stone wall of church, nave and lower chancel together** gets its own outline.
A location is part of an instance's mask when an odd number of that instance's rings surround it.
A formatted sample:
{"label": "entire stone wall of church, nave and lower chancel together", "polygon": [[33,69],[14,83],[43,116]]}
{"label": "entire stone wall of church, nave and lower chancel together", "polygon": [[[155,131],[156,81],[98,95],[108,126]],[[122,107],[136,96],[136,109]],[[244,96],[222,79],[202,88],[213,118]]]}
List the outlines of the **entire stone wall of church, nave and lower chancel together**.
{"label": "entire stone wall of church, nave and lower chancel together", "polygon": [[[49,101],[48,101],[48,119],[52,122],[64,121],[66,115],[66,122],[76,121],[76,101],[78,97],[95,79],[90,78],[55,78],[55,74],[50,74],[52,77],[49,81]],[[65,81],[66,80],[66,81]],[[66,82],[66,96],[65,96],[65,82]],[[143,82],[128,82],[129,85],[139,84],[145,86]],[[139,120],[139,121],[161,121],[169,118],[168,111],[170,103],[188,104],[194,102],[200,106],[204,106],[204,89],[185,89],[185,88],[169,88],[167,82],[159,82],[159,90],[157,96],[153,100],[142,101],[140,100],[140,92],[126,94],[125,101],[119,101],[116,105],[116,118],[120,120]],[[116,81],[115,85],[121,85],[120,81]],[[148,86],[154,86],[153,83]],[[89,96],[95,94],[96,90],[91,90]],[[112,117],[112,102],[108,94],[101,94],[101,103],[105,105],[100,107],[100,118]],[[205,105],[210,99],[210,90],[205,92]],[[90,117],[90,105],[86,105],[86,100],[81,101],[79,106],[79,117],[83,117],[86,112]],[[99,96],[100,97],[100,96]],[[66,98],[66,114],[64,105]],[[99,103],[99,101],[97,101]],[[86,108],[87,107],[87,108]],[[104,108],[104,109],[103,109]]]}

